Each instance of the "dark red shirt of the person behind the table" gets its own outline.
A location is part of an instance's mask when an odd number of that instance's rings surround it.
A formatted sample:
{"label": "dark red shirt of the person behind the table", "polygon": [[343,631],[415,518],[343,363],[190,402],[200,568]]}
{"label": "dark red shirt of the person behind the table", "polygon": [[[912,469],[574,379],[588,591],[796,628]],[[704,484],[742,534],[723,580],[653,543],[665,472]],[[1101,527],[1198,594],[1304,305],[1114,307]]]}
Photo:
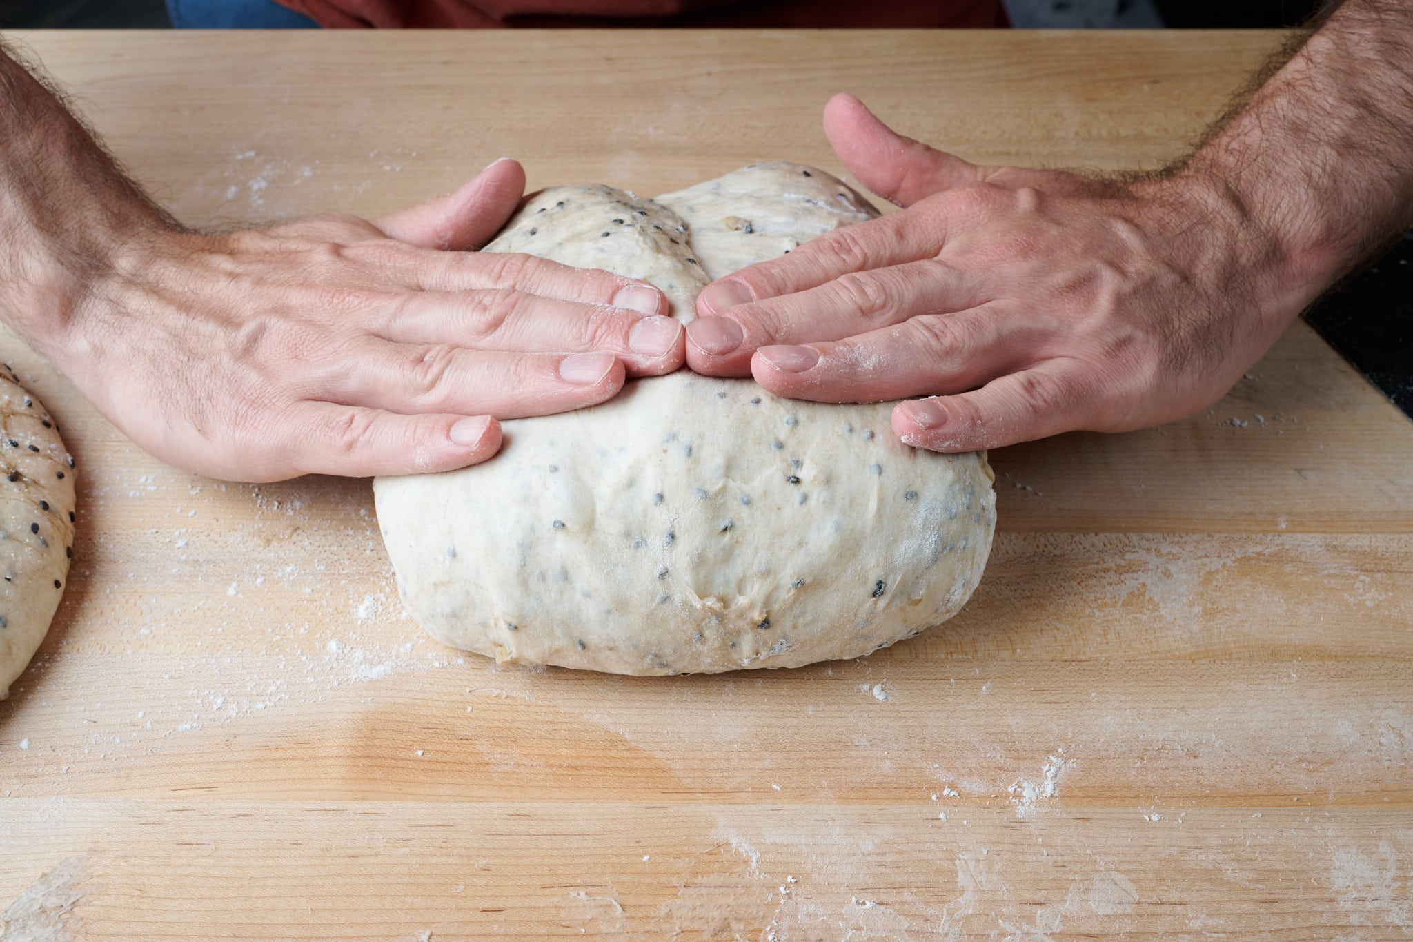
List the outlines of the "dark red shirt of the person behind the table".
{"label": "dark red shirt of the person behind the table", "polygon": [[324,27],[998,27],[1000,0],[278,0]]}

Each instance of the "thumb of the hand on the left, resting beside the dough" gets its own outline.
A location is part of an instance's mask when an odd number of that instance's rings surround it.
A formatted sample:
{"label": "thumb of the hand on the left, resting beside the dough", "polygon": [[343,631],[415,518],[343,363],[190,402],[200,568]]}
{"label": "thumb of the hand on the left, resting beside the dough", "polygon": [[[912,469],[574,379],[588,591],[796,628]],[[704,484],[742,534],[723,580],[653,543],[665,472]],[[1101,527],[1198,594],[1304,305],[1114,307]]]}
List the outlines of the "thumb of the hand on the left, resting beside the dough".
{"label": "thumb of the hand on the left, resting beside the dough", "polygon": [[516,210],[524,189],[524,168],[502,157],[461,189],[383,216],[374,225],[422,249],[479,249]]}

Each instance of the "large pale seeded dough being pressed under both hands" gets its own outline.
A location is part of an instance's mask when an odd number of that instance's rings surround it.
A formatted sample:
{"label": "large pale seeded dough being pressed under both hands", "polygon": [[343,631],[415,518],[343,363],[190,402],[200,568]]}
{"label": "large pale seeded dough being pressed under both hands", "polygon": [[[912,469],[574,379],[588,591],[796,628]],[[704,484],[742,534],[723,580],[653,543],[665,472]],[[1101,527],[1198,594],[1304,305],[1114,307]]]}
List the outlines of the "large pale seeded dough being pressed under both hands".
{"label": "large pale seeded dough being pressed under both hands", "polygon": [[[643,278],[687,321],[712,278],[875,215],[822,171],[759,164],[656,201],[547,189],[486,251]],[[890,412],[687,370],[634,380],[504,422],[483,465],[377,479],[379,524],[413,617],[497,661],[687,674],[851,658],[955,614],[991,552],[985,456],[909,448]]]}

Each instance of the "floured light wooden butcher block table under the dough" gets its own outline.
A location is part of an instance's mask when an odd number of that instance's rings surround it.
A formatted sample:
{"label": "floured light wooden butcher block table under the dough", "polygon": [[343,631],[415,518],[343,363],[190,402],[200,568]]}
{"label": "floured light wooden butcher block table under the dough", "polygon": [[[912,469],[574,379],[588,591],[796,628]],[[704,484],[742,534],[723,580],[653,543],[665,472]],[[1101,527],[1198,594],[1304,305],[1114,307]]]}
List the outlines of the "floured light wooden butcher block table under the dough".
{"label": "floured light wooden butcher block table under the dough", "polygon": [[[1280,37],[10,40],[181,219],[230,225],[384,213],[506,154],[640,193],[839,171],[841,89],[971,160],[1152,167]],[[995,551],[945,626],[675,678],[447,648],[369,482],[165,467],[3,356],[79,484],[0,703],[7,942],[1413,936],[1413,424],[1303,323],[1188,421],[993,452]]]}

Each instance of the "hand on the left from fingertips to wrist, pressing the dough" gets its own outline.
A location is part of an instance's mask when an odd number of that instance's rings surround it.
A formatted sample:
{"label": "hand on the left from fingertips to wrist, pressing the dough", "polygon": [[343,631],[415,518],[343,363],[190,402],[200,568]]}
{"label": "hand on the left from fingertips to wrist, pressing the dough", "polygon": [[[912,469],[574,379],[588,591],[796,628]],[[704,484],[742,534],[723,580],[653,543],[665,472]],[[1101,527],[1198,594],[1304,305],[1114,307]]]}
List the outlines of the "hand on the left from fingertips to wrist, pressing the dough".
{"label": "hand on the left from fingertips to wrist, pressing the dough", "polygon": [[376,223],[136,242],[40,345],[157,458],[216,477],[485,460],[495,419],[610,398],[682,362],[656,288],[485,243],[524,186],[499,161]]}

